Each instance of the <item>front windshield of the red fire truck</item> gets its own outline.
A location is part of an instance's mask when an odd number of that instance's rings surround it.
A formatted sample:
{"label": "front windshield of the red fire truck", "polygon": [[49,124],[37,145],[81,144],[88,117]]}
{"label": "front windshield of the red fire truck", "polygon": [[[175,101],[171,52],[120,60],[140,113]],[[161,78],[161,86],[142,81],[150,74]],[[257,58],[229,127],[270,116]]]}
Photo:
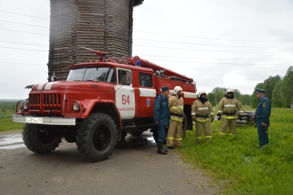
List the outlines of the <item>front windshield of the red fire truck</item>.
{"label": "front windshield of the red fire truck", "polygon": [[111,67],[86,67],[71,69],[67,81],[101,81],[116,83],[115,70]]}

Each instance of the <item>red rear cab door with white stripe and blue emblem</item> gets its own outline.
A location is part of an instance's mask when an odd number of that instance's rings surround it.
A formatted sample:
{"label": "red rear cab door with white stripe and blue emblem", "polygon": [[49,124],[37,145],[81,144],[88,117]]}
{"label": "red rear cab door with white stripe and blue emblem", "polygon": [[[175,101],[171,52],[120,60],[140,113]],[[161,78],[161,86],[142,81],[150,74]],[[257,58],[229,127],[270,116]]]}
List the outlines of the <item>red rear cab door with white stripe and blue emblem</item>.
{"label": "red rear cab door with white stripe and blue emblem", "polygon": [[154,73],[138,71],[139,79],[139,117],[153,116],[156,89],[154,87]]}

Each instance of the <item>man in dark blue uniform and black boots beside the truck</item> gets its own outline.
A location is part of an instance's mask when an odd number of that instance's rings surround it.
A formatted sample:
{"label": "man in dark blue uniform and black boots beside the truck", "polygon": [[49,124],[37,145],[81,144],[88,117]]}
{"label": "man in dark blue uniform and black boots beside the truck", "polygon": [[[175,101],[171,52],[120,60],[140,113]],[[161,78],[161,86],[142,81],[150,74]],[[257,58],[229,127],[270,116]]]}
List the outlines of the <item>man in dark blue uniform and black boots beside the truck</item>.
{"label": "man in dark blue uniform and black boots beside the truck", "polygon": [[162,87],[162,93],[156,95],[154,101],[154,119],[153,125],[158,127],[158,153],[167,154],[167,150],[163,149],[163,140],[165,139],[165,129],[170,125],[170,108],[169,108],[169,87]]}

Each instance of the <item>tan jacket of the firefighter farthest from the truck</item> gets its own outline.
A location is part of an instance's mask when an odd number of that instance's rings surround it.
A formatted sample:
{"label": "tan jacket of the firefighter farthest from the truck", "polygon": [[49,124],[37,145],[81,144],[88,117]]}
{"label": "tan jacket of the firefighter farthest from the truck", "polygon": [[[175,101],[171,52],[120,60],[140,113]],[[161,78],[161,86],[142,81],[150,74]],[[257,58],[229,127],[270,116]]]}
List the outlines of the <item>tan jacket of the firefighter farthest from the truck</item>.
{"label": "tan jacket of the firefighter farthest from the truck", "polygon": [[[238,110],[239,115],[243,115],[241,102],[238,98],[234,97],[233,99],[227,98],[228,96],[222,98],[220,100],[219,106],[218,106],[218,113],[227,112],[227,113],[233,113]],[[237,113],[235,115],[229,116],[222,114],[223,118],[227,119],[235,119],[237,118]]]}

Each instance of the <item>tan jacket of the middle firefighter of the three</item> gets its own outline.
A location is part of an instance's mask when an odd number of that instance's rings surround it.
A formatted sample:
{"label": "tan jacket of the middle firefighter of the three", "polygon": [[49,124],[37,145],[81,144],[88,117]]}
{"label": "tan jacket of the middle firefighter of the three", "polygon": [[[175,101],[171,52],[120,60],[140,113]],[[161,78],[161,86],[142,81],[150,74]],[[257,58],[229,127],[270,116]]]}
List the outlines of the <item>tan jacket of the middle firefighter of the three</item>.
{"label": "tan jacket of the middle firefighter of the three", "polygon": [[[214,117],[214,109],[212,107],[212,104],[209,101],[206,101],[204,104],[202,104],[199,99],[195,100],[191,108],[191,116],[208,114],[210,114],[211,117]],[[200,118],[196,116],[195,120],[204,122],[208,121],[209,118]]]}

